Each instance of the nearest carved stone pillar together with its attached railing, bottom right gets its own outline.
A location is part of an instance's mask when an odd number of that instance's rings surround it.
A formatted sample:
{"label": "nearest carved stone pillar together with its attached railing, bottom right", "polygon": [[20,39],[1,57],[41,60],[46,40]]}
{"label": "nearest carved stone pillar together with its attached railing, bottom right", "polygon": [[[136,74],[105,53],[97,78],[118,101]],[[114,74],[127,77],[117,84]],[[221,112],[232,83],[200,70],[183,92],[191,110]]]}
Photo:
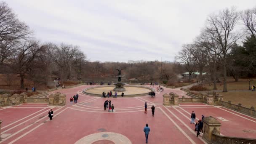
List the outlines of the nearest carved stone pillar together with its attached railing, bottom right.
{"label": "nearest carved stone pillar together with its attached railing, bottom right", "polygon": [[220,135],[221,123],[214,117],[203,119],[203,139],[208,144],[256,144],[256,139]]}

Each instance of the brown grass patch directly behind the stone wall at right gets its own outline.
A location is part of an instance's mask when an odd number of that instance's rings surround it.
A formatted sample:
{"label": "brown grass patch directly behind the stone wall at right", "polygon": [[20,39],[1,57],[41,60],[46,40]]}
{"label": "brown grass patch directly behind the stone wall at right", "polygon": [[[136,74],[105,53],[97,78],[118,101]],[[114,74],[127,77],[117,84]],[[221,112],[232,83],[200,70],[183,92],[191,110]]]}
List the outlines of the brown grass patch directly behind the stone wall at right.
{"label": "brown grass patch directly behind the stone wall at right", "polygon": [[219,94],[224,96],[224,101],[231,101],[232,104],[241,103],[243,107],[256,107],[256,91],[231,91]]}

